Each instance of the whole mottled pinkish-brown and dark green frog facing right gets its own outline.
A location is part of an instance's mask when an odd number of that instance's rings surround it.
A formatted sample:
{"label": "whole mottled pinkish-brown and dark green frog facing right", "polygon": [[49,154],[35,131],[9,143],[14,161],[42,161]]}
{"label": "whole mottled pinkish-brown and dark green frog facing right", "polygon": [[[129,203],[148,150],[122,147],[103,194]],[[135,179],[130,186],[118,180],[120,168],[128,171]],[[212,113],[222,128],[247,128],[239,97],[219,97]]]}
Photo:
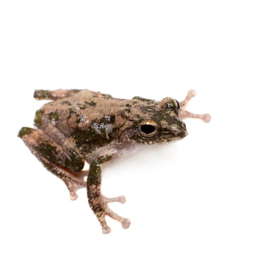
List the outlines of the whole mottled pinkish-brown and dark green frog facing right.
{"label": "whole mottled pinkish-brown and dark green frog facing right", "polygon": [[[119,221],[124,229],[131,221],[109,207],[111,202],[124,204],[126,199],[102,194],[103,169],[145,146],[185,138],[185,118],[209,122],[209,114],[186,111],[194,96],[195,90],[189,90],[178,102],[171,97],[161,101],[140,96],[117,99],[86,89],[35,90],[35,99],[51,101],[36,111],[35,127],[22,127],[18,137],[49,172],[64,181],[71,200],[78,198],[78,189],[87,189],[88,204],[102,233],[108,234],[111,227],[106,216]],[[89,169],[84,170],[86,163]]]}

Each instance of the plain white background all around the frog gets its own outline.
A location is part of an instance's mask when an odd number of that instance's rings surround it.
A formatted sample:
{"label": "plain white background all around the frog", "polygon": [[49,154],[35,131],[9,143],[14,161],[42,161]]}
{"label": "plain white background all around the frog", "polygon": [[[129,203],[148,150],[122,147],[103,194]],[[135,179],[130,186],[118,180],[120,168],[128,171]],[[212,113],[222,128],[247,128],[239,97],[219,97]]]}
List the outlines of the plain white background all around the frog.
{"label": "plain white background all around the frog", "polygon": [[[0,255],[256,255],[256,5],[249,0],[1,0]],[[189,136],[105,169],[108,218],[38,162],[17,133],[35,89],[182,100],[211,113]]]}

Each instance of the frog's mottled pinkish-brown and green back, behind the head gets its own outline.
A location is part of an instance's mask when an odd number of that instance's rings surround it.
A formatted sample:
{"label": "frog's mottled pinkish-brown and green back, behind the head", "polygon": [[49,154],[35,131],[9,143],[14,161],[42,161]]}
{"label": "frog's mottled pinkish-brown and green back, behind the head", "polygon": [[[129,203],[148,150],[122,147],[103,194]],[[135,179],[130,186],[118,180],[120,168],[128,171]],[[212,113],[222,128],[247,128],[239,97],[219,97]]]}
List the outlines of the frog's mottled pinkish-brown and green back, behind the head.
{"label": "frog's mottled pinkish-brown and green back, behind the head", "polygon": [[84,155],[92,154],[117,139],[119,101],[107,94],[81,90],[45,104],[36,112],[35,125],[54,125]]}

